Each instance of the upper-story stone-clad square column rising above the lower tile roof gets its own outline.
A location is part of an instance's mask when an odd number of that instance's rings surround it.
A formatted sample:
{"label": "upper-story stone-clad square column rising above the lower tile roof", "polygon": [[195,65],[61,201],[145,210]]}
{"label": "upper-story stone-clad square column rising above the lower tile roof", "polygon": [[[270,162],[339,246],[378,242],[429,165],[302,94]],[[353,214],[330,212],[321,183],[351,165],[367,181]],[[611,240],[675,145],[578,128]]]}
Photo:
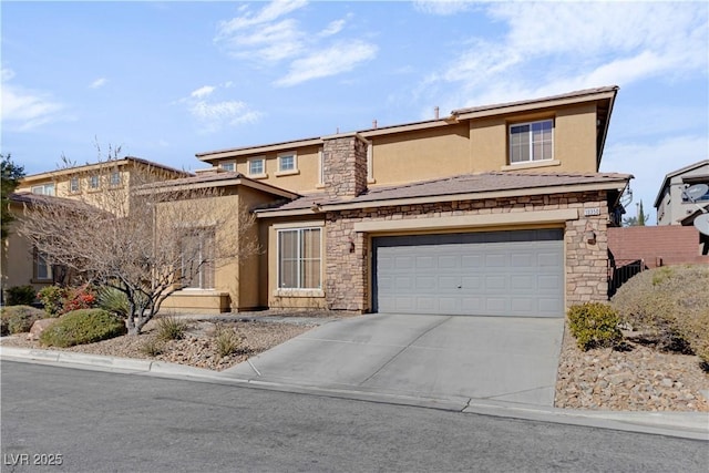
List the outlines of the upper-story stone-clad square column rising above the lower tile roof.
{"label": "upper-story stone-clad square column rising above the lower tile roof", "polygon": [[367,142],[361,136],[326,140],[322,157],[323,184],[330,198],[352,198],[367,189]]}

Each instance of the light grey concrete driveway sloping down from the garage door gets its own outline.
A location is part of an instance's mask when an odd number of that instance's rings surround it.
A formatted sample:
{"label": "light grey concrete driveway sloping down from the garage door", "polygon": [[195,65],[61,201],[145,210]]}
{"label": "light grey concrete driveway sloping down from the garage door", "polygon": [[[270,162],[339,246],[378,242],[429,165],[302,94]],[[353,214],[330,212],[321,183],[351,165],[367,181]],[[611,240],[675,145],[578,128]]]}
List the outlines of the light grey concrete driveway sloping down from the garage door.
{"label": "light grey concrete driveway sloping down from the garage door", "polygon": [[552,407],[563,319],[366,315],[326,323],[225,377]]}

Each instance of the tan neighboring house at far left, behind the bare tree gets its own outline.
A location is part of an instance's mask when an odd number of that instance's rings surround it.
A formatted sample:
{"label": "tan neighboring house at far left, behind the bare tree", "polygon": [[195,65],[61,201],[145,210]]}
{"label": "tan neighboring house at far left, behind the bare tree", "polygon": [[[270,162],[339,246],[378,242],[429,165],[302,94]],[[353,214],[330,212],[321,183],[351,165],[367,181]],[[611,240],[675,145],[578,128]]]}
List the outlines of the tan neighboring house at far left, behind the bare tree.
{"label": "tan neighboring house at far left, behind the bare tree", "polygon": [[[49,198],[56,202],[81,200],[100,207],[106,207],[105,204],[110,202],[116,206],[124,206],[122,210],[127,212],[127,195],[136,185],[186,176],[192,174],[137,157],[124,157],[23,177],[16,193],[10,196],[10,209],[16,222],[10,225],[10,235],[0,248],[2,289],[25,285],[41,289],[61,281],[64,276],[61,270],[58,271],[60,268],[48,265],[42,255],[16,232],[17,220],[22,218],[25,206],[33,205],[37,199]],[[125,189],[125,197],[101,199],[101,192],[105,188]],[[117,195],[121,196],[123,193]]]}

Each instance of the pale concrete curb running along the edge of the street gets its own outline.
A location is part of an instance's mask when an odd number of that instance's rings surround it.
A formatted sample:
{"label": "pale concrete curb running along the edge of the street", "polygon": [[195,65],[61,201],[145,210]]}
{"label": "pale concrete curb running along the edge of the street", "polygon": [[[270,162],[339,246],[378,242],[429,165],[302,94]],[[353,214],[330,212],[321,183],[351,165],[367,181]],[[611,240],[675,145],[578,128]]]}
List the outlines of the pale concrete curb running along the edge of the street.
{"label": "pale concrete curb running along the edge of the street", "polygon": [[54,366],[66,364],[71,368],[112,370],[127,374],[186,379],[218,384],[237,384],[280,392],[327,395],[368,402],[387,402],[471,414],[709,441],[709,414],[703,412],[580,411],[459,397],[448,399],[420,398],[405,394],[364,391],[356,389],[356,387],[321,388],[290,384],[277,380],[259,380],[253,377],[236,378],[208,369],[186,367],[164,361],[2,346],[0,346],[0,359]]}

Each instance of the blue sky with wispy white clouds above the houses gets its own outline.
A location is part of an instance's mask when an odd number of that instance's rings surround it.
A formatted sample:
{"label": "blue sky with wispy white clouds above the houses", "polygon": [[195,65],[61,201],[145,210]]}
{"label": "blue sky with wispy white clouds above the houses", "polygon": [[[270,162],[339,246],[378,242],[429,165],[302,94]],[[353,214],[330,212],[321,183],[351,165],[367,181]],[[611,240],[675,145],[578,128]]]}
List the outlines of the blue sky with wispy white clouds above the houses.
{"label": "blue sky with wispy white clouds above the houses", "polygon": [[[1,152],[28,174],[619,85],[602,171],[653,203],[709,157],[703,2],[2,1]],[[634,215],[635,205],[629,208]]]}

